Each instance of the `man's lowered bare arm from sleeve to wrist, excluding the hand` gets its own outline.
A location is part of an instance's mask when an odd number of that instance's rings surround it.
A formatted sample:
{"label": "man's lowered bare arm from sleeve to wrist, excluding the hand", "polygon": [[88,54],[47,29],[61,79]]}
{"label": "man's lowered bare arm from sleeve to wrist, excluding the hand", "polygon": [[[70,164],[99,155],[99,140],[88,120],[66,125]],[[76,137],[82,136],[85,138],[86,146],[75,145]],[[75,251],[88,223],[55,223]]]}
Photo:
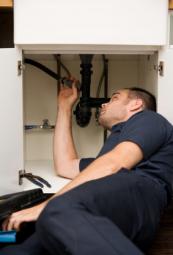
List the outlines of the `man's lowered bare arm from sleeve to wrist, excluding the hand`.
{"label": "man's lowered bare arm from sleeve to wrist, excluding the hand", "polygon": [[87,181],[99,179],[118,172],[121,168],[131,169],[143,158],[141,148],[130,141],[122,142],[113,150],[97,158],[74,180],[68,183],[58,193],[61,195]]}

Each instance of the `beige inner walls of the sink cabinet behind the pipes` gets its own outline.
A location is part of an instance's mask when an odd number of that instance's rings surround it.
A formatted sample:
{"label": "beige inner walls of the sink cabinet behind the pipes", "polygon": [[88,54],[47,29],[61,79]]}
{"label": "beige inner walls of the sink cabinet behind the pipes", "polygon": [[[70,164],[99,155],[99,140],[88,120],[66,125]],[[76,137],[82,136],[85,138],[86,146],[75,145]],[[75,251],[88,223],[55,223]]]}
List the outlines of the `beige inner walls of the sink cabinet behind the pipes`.
{"label": "beige inner walls of the sink cabinet behind the pipes", "polygon": [[[61,62],[77,79],[80,75],[80,57],[77,54],[62,54]],[[105,55],[108,59],[108,96],[121,88],[132,86],[142,87],[157,97],[157,62],[158,54],[114,54]],[[58,64],[51,54],[25,54],[42,63],[54,72]],[[94,55],[92,61],[91,96],[96,97],[96,91],[103,70],[102,55]],[[66,76],[63,68],[61,76]],[[104,86],[104,85],[103,85]],[[104,96],[103,86],[100,97]],[[24,71],[24,125],[41,125],[48,119],[55,125],[57,114],[58,82],[32,65],[25,65]],[[81,128],[76,124],[73,116],[73,134],[79,157],[96,156],[103,144],[103,128],[95,120],[95,109],[92,110],[92,119],[89,125]],[[54,130],[25,130],[24,147],[25,162],[51,162],[53,160],[53,132]]]}

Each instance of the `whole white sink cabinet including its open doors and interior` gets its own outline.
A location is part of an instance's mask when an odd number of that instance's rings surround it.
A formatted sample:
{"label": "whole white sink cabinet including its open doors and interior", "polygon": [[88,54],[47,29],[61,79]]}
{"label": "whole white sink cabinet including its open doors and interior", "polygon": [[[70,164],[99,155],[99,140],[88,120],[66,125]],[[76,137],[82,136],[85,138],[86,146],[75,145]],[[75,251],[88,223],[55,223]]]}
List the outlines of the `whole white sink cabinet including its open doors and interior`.
{"label": "whole white sink cabinet including its open doors and interior", "polygon": [[[167,0],[14,0],[16,48],[0,50],[0,194],[36,187],[27,180],[18,185],[20,169],[47,179],[52,189],[45,188],[45,192],[55,192],[68,182],[53,170],[53,130],[24,130],[25,125],[41,125],[43,119],[55,124],[57,81],[28,64],[18,75],[22,58],[57,72],[54,54],[60,54],[63,64],[80,80],[79,54],[94,54],[91,96],[96,97],[105,54],[108,96],[123,87],[147,89],[155,94],[158,111],[173,123],[173,50],[160,47],[166,44],[167,4]],[[158,71],[160,61],[164,62],[163,76]],[[84,129],[73,116],[73,133],[79,157],[95,156],[103,144],[103,130],[94,111]]]}

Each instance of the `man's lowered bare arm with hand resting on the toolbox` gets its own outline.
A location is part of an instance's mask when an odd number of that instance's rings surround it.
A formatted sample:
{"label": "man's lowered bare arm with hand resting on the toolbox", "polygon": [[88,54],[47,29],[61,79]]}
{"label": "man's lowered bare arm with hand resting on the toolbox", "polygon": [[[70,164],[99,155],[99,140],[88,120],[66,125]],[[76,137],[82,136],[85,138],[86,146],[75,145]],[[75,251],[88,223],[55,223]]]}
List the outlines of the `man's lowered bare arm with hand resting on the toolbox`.
{"label": "man's lowered bare arm with hand resting on the toolbox", "polygon": [[[133,166],[139,163],[142,158],[142,150],[137,144],[128,141],[122,142],[110,152],[97,158],[83,172],[79,173],[74,180],[57,192],[53,197],[59,196],[87,181],[114,174],[123,167],[130,170],[133,168]],[[22,222],[36,220],[47,203],[48,201],[45,201],[35,207],[13,213],[10,218],[4,221],[3,229],[18,230]]]}

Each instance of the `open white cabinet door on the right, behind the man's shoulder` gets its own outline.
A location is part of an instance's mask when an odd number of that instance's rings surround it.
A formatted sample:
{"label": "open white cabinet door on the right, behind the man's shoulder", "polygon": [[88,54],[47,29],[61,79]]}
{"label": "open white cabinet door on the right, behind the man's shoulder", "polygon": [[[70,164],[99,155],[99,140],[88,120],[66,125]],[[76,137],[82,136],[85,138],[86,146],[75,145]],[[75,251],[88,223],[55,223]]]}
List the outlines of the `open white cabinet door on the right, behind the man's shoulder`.
{"label": "open white cabinet door on the right, behind the man's shoulder", "polygon": [[173,49],[163,49],[159,53],[159,63],[163,61],[163,76],[158,78],[158,112],[173,124]]}

